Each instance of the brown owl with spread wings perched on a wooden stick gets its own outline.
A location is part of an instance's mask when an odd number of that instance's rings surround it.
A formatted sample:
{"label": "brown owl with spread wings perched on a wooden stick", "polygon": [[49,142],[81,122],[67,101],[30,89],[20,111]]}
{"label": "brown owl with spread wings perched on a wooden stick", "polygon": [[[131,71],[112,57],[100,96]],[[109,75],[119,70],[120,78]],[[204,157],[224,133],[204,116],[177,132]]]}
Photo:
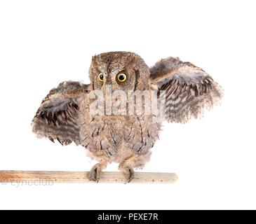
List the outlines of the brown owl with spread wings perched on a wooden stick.
{"label": "brown owl with spread wings perched on a wooden stick", "polygon": [[[222,87],[208,73],[176,57],[161,59],[149,67],[134,52],[105,52],[93,56],[89,76],[90,84],[65,81],[50,90],[32,120],[32,130],[37,137],[58,141],[62,146],[74,142],[86,148],[88,156],[97,160],[89,172],[91,181],[99,181],[100,173],[111,162],[119,163],[119,170],[128,182],[132,181],[134,168],[149,161],[165,120],[187,123],[222,98]],[[125,102],[124,109],[131,93],[156,92],[156,100],[161,99],[164,105],[164,119],[157,119],[157,113],[106,113],[105,106],[103,113],[92,113],[92,104],[100,99],[95,92],[102,92],[105,105],[107,91],[124,93],[119,100],[120,105]],[[149,104],[152,96],[143,98],[140,104]],[[135,101],[130,102],[137,106]]]}

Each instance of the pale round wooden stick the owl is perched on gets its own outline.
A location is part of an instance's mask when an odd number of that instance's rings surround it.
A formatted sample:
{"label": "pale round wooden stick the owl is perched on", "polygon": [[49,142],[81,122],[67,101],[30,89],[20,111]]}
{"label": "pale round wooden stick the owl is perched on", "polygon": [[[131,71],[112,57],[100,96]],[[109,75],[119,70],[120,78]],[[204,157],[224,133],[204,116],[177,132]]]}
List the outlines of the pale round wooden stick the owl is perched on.
{"label": "pale round wooden stick the owl is perched on", "polygon": [[[94,183],[88,179],[89,172],[58,172],[58,171],[0,171],[0,182],[31,182],[44,183]],[[135,172],[130,183],[175,183],[177,175],[172,173]],[[99,183],[126,183],[126,176],[121,172],[102,172]]]}

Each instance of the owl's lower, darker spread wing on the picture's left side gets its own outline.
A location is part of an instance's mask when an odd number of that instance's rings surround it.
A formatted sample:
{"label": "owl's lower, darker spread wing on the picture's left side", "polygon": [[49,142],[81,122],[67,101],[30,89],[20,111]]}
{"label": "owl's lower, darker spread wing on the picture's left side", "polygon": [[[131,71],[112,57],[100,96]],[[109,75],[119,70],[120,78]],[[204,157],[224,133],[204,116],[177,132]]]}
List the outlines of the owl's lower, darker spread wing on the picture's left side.
{"label": "owl's lower, darker spread wing on the picture's left side", "polygon": [[79,96],[88,92],[89,85],[79,82],[63,82],[43,99],[32,120],[32,129],[37,137],[46,137],[50,141],[59,141],[68,145],[79,139]]}

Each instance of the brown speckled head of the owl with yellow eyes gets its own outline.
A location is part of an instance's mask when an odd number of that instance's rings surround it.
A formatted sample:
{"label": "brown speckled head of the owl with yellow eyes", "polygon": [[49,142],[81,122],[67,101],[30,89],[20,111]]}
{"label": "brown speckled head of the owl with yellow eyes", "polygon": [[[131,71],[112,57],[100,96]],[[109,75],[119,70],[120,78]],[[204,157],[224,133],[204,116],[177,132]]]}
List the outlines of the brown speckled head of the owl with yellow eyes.
{"label": "brown speckled head of the owl with yellow eyes", "polygon": [[93,56],[90,65],[93,90],[146,90],[149,67],[133,52],[106,52]]}

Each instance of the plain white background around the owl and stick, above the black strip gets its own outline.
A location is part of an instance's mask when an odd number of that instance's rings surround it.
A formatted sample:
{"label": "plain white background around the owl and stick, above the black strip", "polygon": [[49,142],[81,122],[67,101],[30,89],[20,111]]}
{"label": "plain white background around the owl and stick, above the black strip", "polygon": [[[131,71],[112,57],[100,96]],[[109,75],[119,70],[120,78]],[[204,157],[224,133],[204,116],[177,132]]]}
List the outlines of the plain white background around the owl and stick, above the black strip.
{"label": "plain white background around the owl and stick, above the black strip", "polygon": [[[30,122],[63,80],[88,83],[93,55],[180,57],[225,90],[202,120],[165,124],[145,172],[174,185],[0,184],[1,209],[256,209],[255,1],[0,1],[0,169],[88,171],[74,144],[36,139]],[[110,165],[108,170],[116,170]]]}

